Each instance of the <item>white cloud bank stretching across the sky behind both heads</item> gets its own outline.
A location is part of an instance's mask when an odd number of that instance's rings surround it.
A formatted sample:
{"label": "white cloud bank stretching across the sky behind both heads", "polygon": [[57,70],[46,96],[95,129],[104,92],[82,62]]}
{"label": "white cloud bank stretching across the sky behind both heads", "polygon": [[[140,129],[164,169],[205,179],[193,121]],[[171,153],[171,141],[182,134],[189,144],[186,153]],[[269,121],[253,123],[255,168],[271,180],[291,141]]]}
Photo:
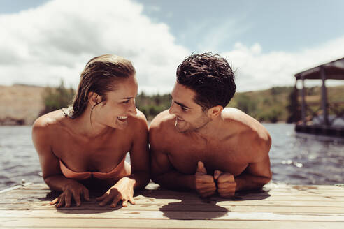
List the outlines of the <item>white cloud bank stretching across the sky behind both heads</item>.
{"label": "white cloud bank stretching across the sky behind both heads", "polygon": [[[166,24],[153,22],[143,15],[140,3],[129,0],[50,1],[0,15],[0,27],[0,84],[45,86],[63,79],[76,87],[89,59],[111,53],[134,63],[140,90],[169,92],[176,67],[191,53],[175,43]],[[189,33],[199,34],[204,27],[207,24],[192,25]],[[211,46],[229,36],[229,27],[233,22],[194,42],[203,44],[200,49],[205,52],[215,52]],[[264,53],[259,43],[252,47],[236,43],[234,50],[222,55],[237,69],[238,91],[267,89],[293,85],[294,73],[343,57],[344,37],[299,52]]]}

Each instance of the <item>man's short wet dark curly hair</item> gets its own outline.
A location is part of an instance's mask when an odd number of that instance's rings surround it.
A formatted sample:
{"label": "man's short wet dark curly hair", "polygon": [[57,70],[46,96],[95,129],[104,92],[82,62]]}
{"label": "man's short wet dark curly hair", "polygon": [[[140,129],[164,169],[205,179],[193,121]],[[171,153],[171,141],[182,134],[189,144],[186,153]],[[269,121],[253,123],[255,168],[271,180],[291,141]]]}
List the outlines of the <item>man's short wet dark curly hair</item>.
{"label": "man's short wet dark curly hair", "polygon": [[186,57],[177,68],[177,82],[196,92],[202,110],[227,106],[236,92],[234,72],[226,59],[206,52]]}

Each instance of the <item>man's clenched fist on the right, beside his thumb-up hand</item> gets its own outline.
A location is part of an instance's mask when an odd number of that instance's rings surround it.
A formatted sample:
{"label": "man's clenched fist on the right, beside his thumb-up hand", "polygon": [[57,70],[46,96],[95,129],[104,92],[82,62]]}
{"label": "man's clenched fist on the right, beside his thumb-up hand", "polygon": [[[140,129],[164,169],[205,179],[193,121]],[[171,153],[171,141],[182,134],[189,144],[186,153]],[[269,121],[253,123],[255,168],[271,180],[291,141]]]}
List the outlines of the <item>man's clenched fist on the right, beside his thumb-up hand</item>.
{"label": "man's clenched fist on the right, beside his thumb-up hand", "polygon": [[215,170],[214,179],[217,181],[217,192],[221,197],[229,198],[236,193],[236,182],[234,176],[229,172]]}

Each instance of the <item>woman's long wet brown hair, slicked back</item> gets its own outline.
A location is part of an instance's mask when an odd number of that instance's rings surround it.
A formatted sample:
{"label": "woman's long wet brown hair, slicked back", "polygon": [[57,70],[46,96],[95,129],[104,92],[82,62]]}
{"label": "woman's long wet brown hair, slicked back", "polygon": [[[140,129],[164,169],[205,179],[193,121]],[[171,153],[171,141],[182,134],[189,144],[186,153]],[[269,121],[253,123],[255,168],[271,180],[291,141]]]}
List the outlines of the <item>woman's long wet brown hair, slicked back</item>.
{"label": "woman's long wet brown hair, slicked back", "polygon": [[80,83],[73,104],[64,110],[64,113],[71,119],[79,117],[87,108],[89,92],[95,92],[101,96],[101,102],[105,102],[106,93],[115,89],[117,80],[134,74],[134,66],[123,57],[105,54],[92,58],[80,75]]}

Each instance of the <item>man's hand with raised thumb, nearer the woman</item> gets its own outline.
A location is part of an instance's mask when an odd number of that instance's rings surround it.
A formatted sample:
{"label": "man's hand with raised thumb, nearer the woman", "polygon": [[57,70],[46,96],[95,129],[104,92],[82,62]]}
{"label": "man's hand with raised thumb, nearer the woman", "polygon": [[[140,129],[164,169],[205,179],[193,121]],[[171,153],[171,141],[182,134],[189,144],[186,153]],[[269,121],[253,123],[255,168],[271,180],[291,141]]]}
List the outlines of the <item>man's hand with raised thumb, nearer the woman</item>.
{"label": "man's hand with raised thumb, nearer the woman", "polygon": [[207,170],[204,168],[203,162],[198,162],[194,177],[196,182],[196,191],[201,195],[201,197],[207,197],[215,193],[216,185],[214,178],[211,175],[207,175]]}

